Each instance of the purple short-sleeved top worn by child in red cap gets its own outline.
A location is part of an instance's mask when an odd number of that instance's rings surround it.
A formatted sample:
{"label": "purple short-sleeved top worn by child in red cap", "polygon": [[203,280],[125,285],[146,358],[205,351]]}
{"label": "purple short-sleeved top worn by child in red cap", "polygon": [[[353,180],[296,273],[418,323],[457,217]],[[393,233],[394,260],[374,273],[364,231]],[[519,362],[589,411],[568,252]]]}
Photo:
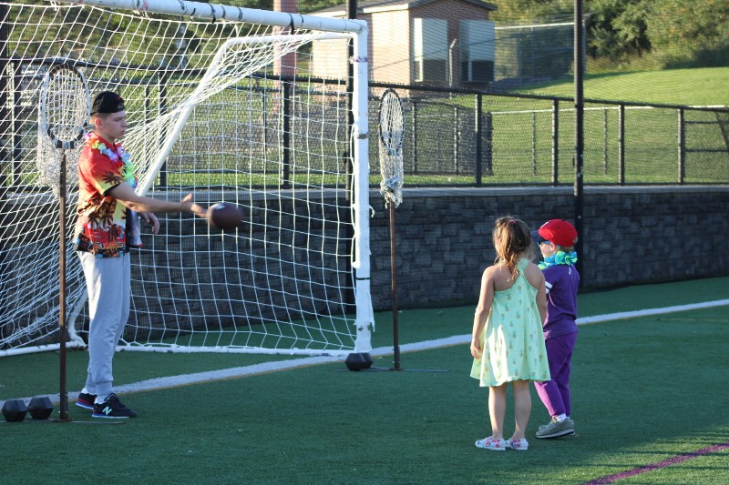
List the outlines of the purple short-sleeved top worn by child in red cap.
{"label": "purple short-sleeved top worn by child in red cap", "polygon": [[547,321],[544,338],[577,331],[577,288],[580,273],[573,265],[556,264],[542,269],[547,287]]}

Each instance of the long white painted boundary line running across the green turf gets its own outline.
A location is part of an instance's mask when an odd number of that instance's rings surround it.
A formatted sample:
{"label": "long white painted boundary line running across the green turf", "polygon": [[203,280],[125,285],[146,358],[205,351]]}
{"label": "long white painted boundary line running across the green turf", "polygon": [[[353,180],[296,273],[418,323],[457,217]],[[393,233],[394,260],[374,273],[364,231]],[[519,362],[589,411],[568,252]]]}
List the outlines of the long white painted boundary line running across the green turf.
{"label": "long white painted boundary line running across the green turf", "polygon": [[[702,303],[692,303],[689,305],[676,305],[673,307],[648,308],[644,310],[623,311],[619,313],[608,313],[605,315],[595,315],[593,317],[583,317],[577,319],[578,325],[590,325],[592,323],[601,323],[606,321],[621,320],[625,318],[650,317],[653,315],[663,315],[666,313],[675,313],[679,311],[687,311],[700,308],[723,307],[729,305],[729,299],[719,299],[714,301],[704,301]],[[438,349],[441,347],[450,347],[454,345],[467,344],[471,340],[471,335],[454,335],[447,338],[436,338],[434,340],[426,340],[412,344],[404,344],[400,346],[400,352],[416,352],[419,350]],[[372,349],[370,355],[373,357],[384,357],[393,353],[392,347],[379,347]],[[333,362],[344,362],[344,357],[309,357],[304,359],[279,360],[277,362],[263,362],[261,364],[253,364],[250,366],[235,367],[231,369],[209,370],[206,372],[195,372],[194,374],[183,374],[180,376],[170,376],[167,378],[147,379],[131,384],[124,384],[115,387],[115,392],[124,394],[127,392],[141,392],[147,390],[168,389],[180,386],[189,386],[191,384],[200,384],[202,382],[210,382],[211,380],[235,379],[268,372],[276,372],[278,370],[298,369],[303,367],[315,366],[319,364],[331,364]],[[47,395],[54,404],[60,402],[58,394]],[[70,401],[77,399],[78,392],[69,392],[68,399]],[[26,403],[30,398],[24,398]],[[0,406],[5,401],[0,400]]]}

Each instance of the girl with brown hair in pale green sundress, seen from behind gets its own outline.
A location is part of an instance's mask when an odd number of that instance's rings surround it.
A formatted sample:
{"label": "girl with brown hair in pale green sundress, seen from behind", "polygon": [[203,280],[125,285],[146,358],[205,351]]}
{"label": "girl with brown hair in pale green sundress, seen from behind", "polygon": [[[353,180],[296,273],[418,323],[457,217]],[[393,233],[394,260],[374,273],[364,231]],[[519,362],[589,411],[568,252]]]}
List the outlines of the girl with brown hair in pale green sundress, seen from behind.
{"label": "girl with brown hair in pale green sundress, seen from behind", "polygon": [[[527,450],[524,436],[531,413],[529,383],[549,380],[542,337],[547,317],[544,275],[531,263],[529,227],[513,217],[499,217],[493,231],[497,259],[486,268],[471,334],[471,377],[488,386],[491,436],[477,440],[487,450]],[[507,384],[514,393],[516,429],[504,440]]]}

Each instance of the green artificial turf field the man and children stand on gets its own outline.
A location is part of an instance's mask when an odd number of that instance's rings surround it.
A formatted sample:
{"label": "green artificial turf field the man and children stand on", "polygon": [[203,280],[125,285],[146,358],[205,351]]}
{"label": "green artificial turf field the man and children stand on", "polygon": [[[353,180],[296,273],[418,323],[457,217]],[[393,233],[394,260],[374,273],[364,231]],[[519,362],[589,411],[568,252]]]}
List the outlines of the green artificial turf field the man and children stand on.
{"label": "green artificial turf field the man and children stand on", "polygon": [[[729,278],[707,278],[586,293],[580,317],[725,299],[727,288]],[[401,344],[466,335],[475,304],[402,311]],[[617,482],[729,483],[727,308],[582,326],[571,379],[577,434],[529,440],[526,452],[474,447],[489,433],[488,390],[468,377],[471,358],[467,344],[459,344],[402,355],[403,369],[447,372],[351,372],[335,362],[128,393],[122,399],[139,417],[118,426],[87,424],[88,411],[73,405],[72,423],[2,423],[0,477],[4,483],[544,484],[632,470],[634,476]],[[391,347],[392,315],[376,320],[374,347]],[[121,352],[115,375],[124,385],[269,360]],[[0,359],[0,399],[57,393],[57,362],[56,353]],[[86,362],[85,352],[69,352],[70,391],[82,385]],[[391,356],[375,359],[376,366],[391,363]],[[549,419],[536,392],[532,397],[528,436]],[[510,433],[510,409],[506,423]],[[660,462],[665,466],[635,471]]]}

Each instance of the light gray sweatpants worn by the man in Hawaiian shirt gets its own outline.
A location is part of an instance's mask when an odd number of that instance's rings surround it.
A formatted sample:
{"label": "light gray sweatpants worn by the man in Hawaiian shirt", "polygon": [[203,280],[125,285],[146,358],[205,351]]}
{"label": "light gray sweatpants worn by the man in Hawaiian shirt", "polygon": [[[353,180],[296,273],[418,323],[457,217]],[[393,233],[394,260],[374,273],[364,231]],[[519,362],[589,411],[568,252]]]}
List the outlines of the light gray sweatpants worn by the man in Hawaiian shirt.
{"label": "light gray sweatpants worn by the man in Hawaiian shirt", "polygon": [[78,252],[88,291],[88,371],[86,389],[100,399],[114,392],[111,361],[129,318],[129,255],[97,258]]}

